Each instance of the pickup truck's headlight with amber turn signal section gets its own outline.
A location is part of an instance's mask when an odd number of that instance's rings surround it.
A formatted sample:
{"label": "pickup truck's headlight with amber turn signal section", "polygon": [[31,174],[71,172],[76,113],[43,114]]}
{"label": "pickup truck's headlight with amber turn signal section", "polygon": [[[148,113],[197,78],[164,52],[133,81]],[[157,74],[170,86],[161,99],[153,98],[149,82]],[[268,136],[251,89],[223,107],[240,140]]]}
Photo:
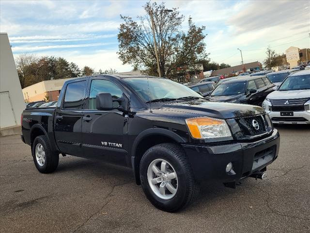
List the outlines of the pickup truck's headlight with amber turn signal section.
{"label": "pickup truck's headlight with amber turn signal section", "polygon": [[186,125],[193,138],[220,138],[232,136],[225,120],[211,117],[186,119]]}

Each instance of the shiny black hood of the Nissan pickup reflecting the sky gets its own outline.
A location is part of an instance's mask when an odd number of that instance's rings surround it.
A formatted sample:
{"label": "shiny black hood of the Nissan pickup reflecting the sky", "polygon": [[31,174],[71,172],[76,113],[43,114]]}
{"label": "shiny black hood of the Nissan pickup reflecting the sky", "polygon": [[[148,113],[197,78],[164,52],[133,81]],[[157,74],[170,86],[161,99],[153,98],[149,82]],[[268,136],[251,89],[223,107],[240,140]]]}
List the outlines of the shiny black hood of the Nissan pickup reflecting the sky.
{"label": "shiny black hood of the Nissan pickup reflecting the sky", "polygon": [[210,116],[215,118],[229,119],[243,116],[253,116],[264,113],[263,108],[248,104],[209,102],[205,100],[192,100],[186,102],[164,103],[159,111],[179,112],[185,117]]}

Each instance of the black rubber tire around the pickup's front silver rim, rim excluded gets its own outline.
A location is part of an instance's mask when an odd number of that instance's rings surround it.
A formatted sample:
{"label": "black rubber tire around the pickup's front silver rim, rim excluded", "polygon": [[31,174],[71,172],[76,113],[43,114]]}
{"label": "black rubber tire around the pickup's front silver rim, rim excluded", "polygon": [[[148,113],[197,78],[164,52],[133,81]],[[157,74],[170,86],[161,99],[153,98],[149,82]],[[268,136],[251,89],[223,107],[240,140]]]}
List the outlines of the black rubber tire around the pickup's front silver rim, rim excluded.
{"label": "black rubber tire around the pickup's front silver rim, rim excluded", "polygon": [[[159,198],[148,182],[148,167],[156,159],[163,159],[172,165],[177,174],[178,188],[169,200]],[[184,150],[177,144],[163,143],[147,150],[140,162],[140,180],[148,200],[158,209],[176,212],[185,208],[198,194],[192,168]]]}

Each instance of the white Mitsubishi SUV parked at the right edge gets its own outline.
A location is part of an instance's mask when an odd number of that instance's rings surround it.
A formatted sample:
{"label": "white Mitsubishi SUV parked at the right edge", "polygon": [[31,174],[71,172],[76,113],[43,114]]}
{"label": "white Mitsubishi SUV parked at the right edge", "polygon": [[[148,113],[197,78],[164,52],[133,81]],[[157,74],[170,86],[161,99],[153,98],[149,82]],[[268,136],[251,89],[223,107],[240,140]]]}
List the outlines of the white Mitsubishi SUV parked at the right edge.
{"label": "white Mitsubishi SUV parked at the right edge", "polygon": [[262,106],[274,124],[310,124],[310,70],[289,75]]}

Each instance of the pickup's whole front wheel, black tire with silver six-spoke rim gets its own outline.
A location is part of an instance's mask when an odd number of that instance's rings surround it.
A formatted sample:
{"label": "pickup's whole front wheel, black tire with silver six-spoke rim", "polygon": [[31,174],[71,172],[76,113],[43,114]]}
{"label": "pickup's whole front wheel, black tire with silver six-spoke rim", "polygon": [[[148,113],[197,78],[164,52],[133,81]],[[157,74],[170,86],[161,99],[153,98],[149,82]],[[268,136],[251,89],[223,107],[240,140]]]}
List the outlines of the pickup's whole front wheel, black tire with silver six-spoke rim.
{"label": "pickup's whole front wheel, black tire with silver six-spoke rim", "polygon": [[186,207],[198,191],[185,152],[172,143],[155,145],[144,153],[140,180],[148,200],[168,212]]}

